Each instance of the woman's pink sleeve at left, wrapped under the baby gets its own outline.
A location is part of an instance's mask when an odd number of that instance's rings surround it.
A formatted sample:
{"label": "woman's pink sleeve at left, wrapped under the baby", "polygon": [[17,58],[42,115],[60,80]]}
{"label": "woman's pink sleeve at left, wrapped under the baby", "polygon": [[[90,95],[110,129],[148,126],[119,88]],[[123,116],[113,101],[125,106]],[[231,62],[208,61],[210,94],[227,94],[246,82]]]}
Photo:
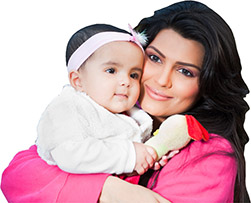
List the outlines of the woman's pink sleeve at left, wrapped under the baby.
{"label": "woman's pink sleeve at left, wrapped under the baby", "polygon": [[8,202],[97,202],[109,174],[70,174],[46,164],[36,146],[19,152],[2,174]]}

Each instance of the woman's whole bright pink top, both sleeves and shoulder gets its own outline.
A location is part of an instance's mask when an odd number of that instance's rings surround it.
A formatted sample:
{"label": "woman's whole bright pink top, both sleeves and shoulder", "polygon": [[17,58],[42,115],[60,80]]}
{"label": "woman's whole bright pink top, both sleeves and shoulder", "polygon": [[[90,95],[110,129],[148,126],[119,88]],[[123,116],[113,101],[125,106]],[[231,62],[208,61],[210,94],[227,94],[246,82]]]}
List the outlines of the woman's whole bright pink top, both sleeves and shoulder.
{"label": "woman's whole bright pink top, both sleeves and shoulder", "polygon": [[[222,153],[197,158],[217,151],[232,148],[216,135],[208,142],[192,142],[161,170],[153,190],[172,202],[233,202],[235,159]],[[47,165],[32,146],[19,152],[3,172],[1,189],[9,202],[97,202],[107,176],[63,172]]]}

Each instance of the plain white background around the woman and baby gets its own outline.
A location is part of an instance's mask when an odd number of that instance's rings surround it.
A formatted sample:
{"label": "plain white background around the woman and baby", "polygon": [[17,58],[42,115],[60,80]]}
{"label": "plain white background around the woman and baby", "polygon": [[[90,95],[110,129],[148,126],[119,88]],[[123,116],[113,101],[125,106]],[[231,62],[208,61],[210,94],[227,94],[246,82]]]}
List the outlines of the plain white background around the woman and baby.
{"label": "plain white background around the woman and baby", "polygon": [[[71,35],[92,23],[127,29],[174,0],[10,0],[0,2],[0,175],[13,156],[34,144],[45,107],[68,82],[65,48]],[[249,1],[202,0],[232,28],[243,77],[251,88]],[[101,86],[102,88],[102,86]],[[251,106],[251,96],[246,100]],[[251,112],[245,128],[251,136]],[[251,142],[246,146],[251,193]],[[0,192],[0,202],[5,202]]]}

